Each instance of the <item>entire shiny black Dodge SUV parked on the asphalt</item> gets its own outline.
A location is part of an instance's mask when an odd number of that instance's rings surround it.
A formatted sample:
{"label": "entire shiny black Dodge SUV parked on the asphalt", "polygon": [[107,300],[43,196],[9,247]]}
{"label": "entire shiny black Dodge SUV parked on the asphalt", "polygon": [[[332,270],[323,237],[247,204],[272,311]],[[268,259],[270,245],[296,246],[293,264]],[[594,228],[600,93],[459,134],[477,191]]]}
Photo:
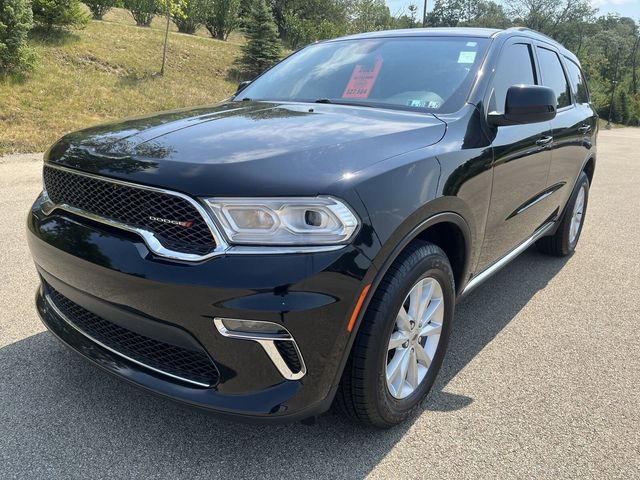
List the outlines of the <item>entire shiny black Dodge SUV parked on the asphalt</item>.
{"label": "entire shiny black Dodge SUV parked on the asphalt", "polygon": [[310,45],[219,105],[69,134],[28,217],[49,330],[166,397],[291,421],[403,421],[456,299],[576,247],[597,117],[533,31]]}

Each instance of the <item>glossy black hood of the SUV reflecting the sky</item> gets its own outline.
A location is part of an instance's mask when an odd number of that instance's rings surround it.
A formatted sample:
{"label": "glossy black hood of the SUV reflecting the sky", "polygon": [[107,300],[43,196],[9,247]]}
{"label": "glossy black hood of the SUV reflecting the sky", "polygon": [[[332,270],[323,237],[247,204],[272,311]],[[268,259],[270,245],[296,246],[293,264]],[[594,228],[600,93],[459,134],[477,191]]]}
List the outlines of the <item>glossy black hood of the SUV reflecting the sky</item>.
{"label": "glossy black hood of the SUV reflecting the sky", "polygon": [[433,115],[365,107],[226,102],[63,137],[49,162],[192,195],[316,195],[438,142]]}

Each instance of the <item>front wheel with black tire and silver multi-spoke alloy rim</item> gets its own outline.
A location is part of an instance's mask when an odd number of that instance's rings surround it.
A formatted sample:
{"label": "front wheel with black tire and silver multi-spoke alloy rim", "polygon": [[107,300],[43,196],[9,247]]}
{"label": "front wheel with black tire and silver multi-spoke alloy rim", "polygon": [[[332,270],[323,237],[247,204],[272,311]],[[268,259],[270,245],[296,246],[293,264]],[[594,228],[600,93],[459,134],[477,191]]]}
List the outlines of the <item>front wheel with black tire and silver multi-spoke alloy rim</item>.
{"label": "front wheel with black tire and silver multi-spoke alloy rim", "polygon": [[351,418],[388,428],[413,414],[442,365],[454,305],[445,253],[411,243],[376,289],[345,367],[337,401]]}

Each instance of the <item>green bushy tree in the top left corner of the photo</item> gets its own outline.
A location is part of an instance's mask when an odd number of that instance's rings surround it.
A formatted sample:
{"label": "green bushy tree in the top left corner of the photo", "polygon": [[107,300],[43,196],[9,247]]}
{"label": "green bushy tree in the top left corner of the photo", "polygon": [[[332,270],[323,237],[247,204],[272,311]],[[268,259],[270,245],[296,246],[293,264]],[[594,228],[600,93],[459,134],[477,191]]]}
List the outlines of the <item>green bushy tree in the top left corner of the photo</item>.
{"label": "green bushy tree in the top left corner of the photo", "polygon": [[27,46],[33,27],[28,0],[0,0],[0,73],[28,70],[35,56]]}

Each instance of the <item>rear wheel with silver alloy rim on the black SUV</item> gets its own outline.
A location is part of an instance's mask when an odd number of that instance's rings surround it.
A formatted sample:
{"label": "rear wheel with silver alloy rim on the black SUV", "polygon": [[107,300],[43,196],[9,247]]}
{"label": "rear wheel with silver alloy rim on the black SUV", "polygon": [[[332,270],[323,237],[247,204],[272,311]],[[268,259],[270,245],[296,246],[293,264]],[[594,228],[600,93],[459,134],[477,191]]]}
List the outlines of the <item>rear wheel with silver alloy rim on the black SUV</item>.
{"label": "rear wheel with silver alloy rim on the black SUV", "polygon": [[558,229],[553,235],[543,237],[536,242],[540,252],[556,257],[566,257],[574,252],[582,233],[588,200],[589,178],[581,172]]}

